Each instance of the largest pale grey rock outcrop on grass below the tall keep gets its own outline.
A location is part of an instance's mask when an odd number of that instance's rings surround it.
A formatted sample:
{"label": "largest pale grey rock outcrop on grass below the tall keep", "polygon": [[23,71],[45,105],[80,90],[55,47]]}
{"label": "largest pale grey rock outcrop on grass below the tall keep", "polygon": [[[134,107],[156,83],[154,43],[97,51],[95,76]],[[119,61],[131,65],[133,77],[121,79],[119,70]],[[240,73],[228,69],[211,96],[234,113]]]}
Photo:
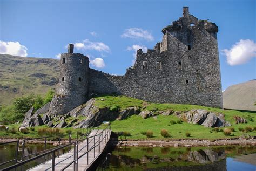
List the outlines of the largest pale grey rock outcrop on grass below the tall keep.
{"label": "largest pale grey rock outcrop on grass below the tall keep", "polygon": [[209,112],[206,110],[193,109],[181,114],[177,113],[177,116],[188,123],[203,125],[205,127],[231,126],[229,122],[224,120],[224,114]]}

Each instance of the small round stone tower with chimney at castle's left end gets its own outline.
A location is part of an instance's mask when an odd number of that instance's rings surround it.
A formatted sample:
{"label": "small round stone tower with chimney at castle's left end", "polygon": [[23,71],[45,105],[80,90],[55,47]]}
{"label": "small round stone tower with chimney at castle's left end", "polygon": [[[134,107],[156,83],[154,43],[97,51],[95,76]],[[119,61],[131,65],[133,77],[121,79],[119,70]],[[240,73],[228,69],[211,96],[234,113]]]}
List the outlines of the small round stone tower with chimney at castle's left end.
{"label": "small round stone tower with chimney at castle's left end", "polygon": [[83,54],[73,53],[73,48],[74,45],[69,44],[68,53],[61,55],[60,78],[50,114],[66,114],[88,100],[89,59]]}

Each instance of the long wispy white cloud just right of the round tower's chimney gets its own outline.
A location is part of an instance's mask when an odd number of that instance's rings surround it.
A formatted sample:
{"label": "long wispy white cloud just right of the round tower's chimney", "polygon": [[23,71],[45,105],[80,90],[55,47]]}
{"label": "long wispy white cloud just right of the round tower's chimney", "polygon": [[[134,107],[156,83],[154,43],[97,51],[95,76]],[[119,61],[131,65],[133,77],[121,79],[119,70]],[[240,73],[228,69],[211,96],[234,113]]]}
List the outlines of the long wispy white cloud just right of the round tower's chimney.
{"label": "long wispy white cloud just right of the round tower's chimney", "polygon": [[[109,46],[102,42],[91,42],[89,39],[85,39],[82,42],[74,43],[75,48],[78,50],[96,50],[100,52],[111,52]],[[66,46],[68,47],[68,45]]]}

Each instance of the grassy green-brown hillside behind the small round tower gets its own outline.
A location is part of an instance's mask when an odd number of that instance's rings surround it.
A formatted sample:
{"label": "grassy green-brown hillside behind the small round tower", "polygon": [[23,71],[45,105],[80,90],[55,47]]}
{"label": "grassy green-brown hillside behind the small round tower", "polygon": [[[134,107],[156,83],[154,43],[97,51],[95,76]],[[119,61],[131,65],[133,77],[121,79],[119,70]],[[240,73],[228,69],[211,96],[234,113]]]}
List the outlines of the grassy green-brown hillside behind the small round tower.
{"label": "grassy green-brown hillside behind the small round tower", "polygon": [[59,60],[0,54],[0,105],[29,93],[44,94],[58,80]]}

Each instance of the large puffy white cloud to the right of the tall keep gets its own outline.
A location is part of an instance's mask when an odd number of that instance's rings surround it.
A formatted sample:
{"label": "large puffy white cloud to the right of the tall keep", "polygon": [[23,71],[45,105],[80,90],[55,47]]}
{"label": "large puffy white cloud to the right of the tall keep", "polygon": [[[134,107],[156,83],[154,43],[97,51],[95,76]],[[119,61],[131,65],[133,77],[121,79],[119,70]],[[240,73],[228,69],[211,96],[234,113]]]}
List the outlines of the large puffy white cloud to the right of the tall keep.
{"label": "large puffy white cloud to the right of the tall keep", "polygon": [[256,43],[250,39],[240,39],[230,49],[222,50],[231,66],[245,64],[251,58],[256,57]]}

